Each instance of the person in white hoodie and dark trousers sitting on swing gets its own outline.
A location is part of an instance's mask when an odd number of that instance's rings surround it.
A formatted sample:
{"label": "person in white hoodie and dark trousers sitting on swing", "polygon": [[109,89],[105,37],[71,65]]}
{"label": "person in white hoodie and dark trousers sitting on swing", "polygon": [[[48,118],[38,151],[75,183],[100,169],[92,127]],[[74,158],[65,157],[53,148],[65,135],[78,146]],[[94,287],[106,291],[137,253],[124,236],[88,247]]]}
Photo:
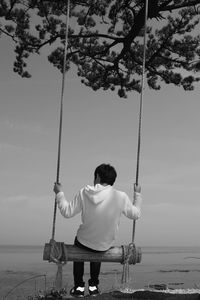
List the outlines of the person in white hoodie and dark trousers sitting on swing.
{"label": "person in white hoodie and dark trousers sitting on swing", "polygon": [[[138,219],[141,214],[141,187],[134,185],[135,203],[132,204],[125,192],[113,188],[117,173],[110,164],[99,165],[94,172],[94,185],[86,185],[75,198],[68,202],[60,183],[55,183],[54,192],[60,213],[71,218],[81,213],[74,244],[90,251],[106,251],[113,246],[122,214],[130,219]],[[101,263],[90,262],[88,290],[91,296],[99,294],[99,274]],[[73,263],[74,287],[70,294],[84,296],[84,262]]]}

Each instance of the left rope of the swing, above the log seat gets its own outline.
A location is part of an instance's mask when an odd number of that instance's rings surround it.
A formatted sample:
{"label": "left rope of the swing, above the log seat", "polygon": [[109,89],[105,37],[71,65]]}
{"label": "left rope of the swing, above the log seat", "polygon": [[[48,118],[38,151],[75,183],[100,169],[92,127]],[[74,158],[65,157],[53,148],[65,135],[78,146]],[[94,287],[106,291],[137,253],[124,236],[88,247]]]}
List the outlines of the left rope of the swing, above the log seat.
{"label": "left rope of the swing, above the log seat", "polygon": [[[61,99],[60,99],[60,123],[59,123],[56,183],[59,183],[59,181],[60,181],[60,159],[61,159],[62,123],[63,123],[63,99],[64,99],[64,93],[65,93],[65,70],[66,70],[66,56],[67,56],[67,48],[68,48],[69,10],[70,10],[70,0],[67,1],[67,14],[66,14],[66,31],[65,31],[65,47],[64,47],[64,59],[63,59],[63,71],[62,71],[62,89],[61,89]],[[57,213],[57,204],[56,204],[56,199],[55,199],[54,214],[53,214],[53,226],[52,226],[52,239],[53,240],[54,240],[54,237],[55,237],[56,213]]]}

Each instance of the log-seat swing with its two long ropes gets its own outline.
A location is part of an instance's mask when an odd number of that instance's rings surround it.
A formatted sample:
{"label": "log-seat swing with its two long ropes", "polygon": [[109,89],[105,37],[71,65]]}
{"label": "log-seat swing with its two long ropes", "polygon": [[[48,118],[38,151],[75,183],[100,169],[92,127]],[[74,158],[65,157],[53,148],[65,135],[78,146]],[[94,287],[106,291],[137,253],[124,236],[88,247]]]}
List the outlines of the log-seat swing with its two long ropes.
{"label": "log-seat swing with its two long ropes", "polygon": [[[61,136],[62,136],[62,116],[63,116],[63,97],[65,88],[65,65],[68,47],[68,28],[69,28],[69,10],[70,0],[67,5],[66,15],[66,35],[65,35],[65,48],[63,59],[63,74],[62,74],[62,92],[60,103],[60,124],[59,124],[59,141],[58,141],[58,158],[57,158],[57,177],[56,183],[59,183],[60,173],[60,153],[61,153]],[[137,166],[136,166],[136,185],[138,185],[139,178],[139,161],[140,161],[140,144],[141,144],[141,125],[142,125],[142,103],[143,103],[143,91],[144,91],[144,78],[145,78],[145,55],[146,55],[146,28],[147,28],[147,16],[148,16],[148,0],[145,5],[145,31],[144,31],[144,48],[143,48],[143,66],[142,66],[142,90],[140,97],[140,110],[139,110],[139,128],[138,128],[138,149],[137,149]],[[132,242],[129,245],[111,247],[105,252],[92,252],[86,249],[79,248],[75,245],[65,244],[63,242],[55,241],[55,223],[56,223],[56,210],[57,204],[54,203],[54,215],[53,215],[53,228],[52,238],[49,243],[46,243],[43,251],[43,260],[54,262],[58,266],[56,288],[59,290],[62,288],[62,265],[67,261],[78,262],[117,262],[123,264],[122,283],[126,283],[129,278],[129,265],[141,262],[142,252],[140,247],[136,247],[134,244],[135,238],[135,221],[133,221]]]}

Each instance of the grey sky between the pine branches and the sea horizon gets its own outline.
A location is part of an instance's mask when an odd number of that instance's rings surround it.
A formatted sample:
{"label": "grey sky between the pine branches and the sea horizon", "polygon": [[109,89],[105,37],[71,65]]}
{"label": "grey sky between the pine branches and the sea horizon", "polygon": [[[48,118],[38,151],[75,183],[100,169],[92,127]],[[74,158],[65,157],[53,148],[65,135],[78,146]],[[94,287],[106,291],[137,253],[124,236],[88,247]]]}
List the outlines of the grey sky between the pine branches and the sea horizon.
{"label": "grey sky between the pine branches and the sea horizon", "polygon": [[[13,73],[12,42],[0,39],[0,244],[43,245],[52,235],[61,75],[45,55],[33,56],[31,79]],[[144,93],[137,246],[200,246],[200,87],[173,85]],[[64,96],[60,181],[67,199],[101,163],[118,173],[115,187],[133,197],[139,94],[82,85],[73,70]],[[80,216],[56,217],[57,241],[72,243]],[[129,243],[122,217],[117,244]]]}

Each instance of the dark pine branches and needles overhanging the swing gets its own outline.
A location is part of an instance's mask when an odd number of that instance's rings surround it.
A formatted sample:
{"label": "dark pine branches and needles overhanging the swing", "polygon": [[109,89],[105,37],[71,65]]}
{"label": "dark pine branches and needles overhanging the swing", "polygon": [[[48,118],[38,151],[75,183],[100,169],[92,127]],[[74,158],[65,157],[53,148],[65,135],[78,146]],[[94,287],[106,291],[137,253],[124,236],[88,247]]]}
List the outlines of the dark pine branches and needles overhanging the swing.
{"label": "dark pine branches and needles overhanging the swing", "polygon": [[[30,77],[31,54],[48,49],[62,72],[67,0],[0,0],[0,34],[15,42],[14,72]],[[71,0],[66,70],[93,90],[141,91],[145,0]],[[149,0],[146,76],[192,90],[200,71],[200,0]]]}

